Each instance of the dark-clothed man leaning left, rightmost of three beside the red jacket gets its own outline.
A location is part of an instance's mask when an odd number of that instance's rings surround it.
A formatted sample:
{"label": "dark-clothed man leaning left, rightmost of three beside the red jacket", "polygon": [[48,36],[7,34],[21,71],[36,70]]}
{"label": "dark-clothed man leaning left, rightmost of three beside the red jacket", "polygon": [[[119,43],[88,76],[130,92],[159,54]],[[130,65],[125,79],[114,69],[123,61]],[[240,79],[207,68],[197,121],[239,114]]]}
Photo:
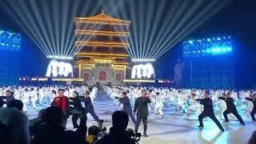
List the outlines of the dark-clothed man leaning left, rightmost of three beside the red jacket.
{"label": "dark-clothed man leaning left, rightmost of three beside the red jacket", "polygon": [[94,118],[94,120],[96,122],[102,123],[103,120],[100,120],[94,112],[94,106],[91,102],[89,95],[90,95],[90,92],[86,91],[86,93],[84,94],[84,96],[81,99],[82,102],[85,102],[86,114],[89,113]]}

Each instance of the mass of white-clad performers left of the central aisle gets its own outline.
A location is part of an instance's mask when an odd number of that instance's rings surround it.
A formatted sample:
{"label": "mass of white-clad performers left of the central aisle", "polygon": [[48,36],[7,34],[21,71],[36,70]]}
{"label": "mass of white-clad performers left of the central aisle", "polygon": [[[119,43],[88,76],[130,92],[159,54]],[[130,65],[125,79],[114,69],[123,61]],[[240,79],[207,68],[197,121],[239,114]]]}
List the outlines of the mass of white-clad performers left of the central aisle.
{"label": "mass of white-clad performers left of the central aisle", "polygon": [[90,91],[91,101],[96,98],[97,87],[89,90],[88,86],[2,86],[0,96],[6,96],[6,91],[10,91],[15,99],[21,100],[24,104],[23,110],[27,112],[27,106],[37,109],[42,106],[50,106],[54,98],[58,96],[58,90],[63,89],[66,97],[74,97],[74,91],[82,96],[86,91]]}

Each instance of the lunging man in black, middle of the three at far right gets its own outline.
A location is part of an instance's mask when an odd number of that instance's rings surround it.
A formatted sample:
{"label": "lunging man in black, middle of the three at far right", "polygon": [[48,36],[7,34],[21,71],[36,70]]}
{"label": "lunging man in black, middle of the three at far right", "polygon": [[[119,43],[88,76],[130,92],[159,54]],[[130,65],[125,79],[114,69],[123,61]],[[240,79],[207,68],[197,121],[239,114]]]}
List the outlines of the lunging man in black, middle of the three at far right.
{"label": "lunging man in black, middle of the three at far right", "polygon": [[237,108],[234,106],[234,99],[231,98],[231,94],[226,94],[227,98],[219,97],[220,99],[224,100],[226,102],[226,110],[223,112],[225,122],[229,122],[229,118],[227,118],[227,114],[234,114],[235,117],[238,118],[238,121],[243,125],[246,126],[245,122],[243,122],[241,116],[238,114]]}

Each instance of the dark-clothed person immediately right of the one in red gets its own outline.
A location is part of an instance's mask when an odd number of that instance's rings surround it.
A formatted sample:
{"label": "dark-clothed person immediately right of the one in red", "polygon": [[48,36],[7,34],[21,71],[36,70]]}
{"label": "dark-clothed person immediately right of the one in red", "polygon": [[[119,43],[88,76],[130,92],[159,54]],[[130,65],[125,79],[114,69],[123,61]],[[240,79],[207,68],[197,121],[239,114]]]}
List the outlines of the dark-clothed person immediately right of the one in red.
{"label": "dark-clothed person immediately right of the one in red", "polygon": [[78,128],[78,118],[84,119],[86,116],[83,114],[85,109],[82,107],[81,99],[78,98],[78,92],[73,92],[73,98],[70,98],[70,114],[72,114],[72,122],[74,128]]}

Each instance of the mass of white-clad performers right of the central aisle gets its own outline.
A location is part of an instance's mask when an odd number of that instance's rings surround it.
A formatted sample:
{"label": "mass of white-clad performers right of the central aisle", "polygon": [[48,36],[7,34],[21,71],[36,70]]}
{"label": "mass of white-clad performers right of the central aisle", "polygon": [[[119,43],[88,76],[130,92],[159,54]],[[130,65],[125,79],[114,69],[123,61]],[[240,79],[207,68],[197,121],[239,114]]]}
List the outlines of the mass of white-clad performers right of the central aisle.
{"label": "mass of white-clad performers right of the central aisle", "polygon": [[[172,88],[146,88],[138,86],[105,86],[104,89],[118,107],[122,107],[122,105],[116,97],[121,97],[123,91],[127,93],[130,102],[134,103],[136,98],[141,96],[141,90],[147,90],[151,100],[149,110],[154,110],[154,113],[160,114],[162,118],[164,117],[162,108],[170,106],[174,106],[177,111],[188,115],[200,114],[203,107],[196,100],[197,98],[203,98],[203,94],[205,93],[205,90],[177,90]],[[256,95],[255,90],[209,90],[209,92],[215,113],[223,114],[226,110],[226,101],[223,98],[226,98],[227,94],[230,94],[230,97],[234,99],[234,105],[238,106],[239,109],[245,110],[247,114],[254,108],[254,103],[250,102],[249,99],[254,98]]]}

